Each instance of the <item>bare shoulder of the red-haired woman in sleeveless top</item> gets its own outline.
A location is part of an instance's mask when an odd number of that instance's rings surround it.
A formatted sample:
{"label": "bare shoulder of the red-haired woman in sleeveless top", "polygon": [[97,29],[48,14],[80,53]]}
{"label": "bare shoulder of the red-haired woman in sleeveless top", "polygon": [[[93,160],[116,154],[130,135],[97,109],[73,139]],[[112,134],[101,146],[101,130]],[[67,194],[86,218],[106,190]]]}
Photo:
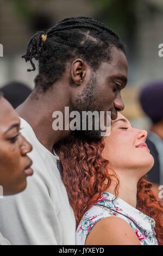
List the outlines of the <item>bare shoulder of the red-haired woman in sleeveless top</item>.
{"label": "bare shoulder of the red-haired woman in sleeveless top", "polygon": [[140,242],[129,223],[111,216],[94,225],[85,245],[140,245]]}

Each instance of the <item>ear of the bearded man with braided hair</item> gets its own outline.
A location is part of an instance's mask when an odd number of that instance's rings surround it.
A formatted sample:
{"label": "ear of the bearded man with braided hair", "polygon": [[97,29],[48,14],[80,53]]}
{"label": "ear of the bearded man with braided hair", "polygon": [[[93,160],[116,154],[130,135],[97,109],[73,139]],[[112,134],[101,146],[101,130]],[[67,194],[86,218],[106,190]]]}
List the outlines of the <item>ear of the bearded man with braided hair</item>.
{"label": "ear of the bearded man with braided hair", "polygon": [[71,66],[71,77],[75,84],[80,85],[86,75],[86,64],[82,59],[76,59]]}

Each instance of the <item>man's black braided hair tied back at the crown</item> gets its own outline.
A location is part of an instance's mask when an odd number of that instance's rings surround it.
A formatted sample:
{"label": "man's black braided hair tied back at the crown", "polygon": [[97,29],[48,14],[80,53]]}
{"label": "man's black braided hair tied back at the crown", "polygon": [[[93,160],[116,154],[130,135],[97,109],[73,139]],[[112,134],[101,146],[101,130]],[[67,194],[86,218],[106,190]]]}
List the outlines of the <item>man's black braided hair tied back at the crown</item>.
{"label": "man's black braided hair tied back at the crown", "polygon": [[27,71],[35,70],[33,59],[39,60],[35,86],[45,92],[61,78],[68,62],[82,58],[96,71],[102,62],[111,60],[113,46],[125,53],[121,39],[110,28],[91,17],[70,17],[33,35],[22,58],[32,65]]}

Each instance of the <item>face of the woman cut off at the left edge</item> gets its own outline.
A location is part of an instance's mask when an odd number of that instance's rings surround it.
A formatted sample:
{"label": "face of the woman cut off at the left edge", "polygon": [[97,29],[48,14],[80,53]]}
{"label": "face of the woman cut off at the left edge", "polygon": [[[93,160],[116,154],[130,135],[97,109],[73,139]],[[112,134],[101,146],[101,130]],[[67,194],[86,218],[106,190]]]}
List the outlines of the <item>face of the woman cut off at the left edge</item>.
{"label": "face of the woman cut off at the left edge", "polygon": [[3,194],[16,194],[26,188],[32,161],[27,156],[32,150],[20,134],[20,118],[10,103],[0,99],[0,185]]}

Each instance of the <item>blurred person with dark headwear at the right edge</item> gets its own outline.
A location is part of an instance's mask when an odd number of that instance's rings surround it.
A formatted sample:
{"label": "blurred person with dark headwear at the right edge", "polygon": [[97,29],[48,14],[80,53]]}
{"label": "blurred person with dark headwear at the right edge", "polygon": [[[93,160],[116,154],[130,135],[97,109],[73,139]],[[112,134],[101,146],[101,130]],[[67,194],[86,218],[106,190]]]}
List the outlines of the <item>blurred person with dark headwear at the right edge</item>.
{"label": "blurred person with dark headwear at the right edge", "polygon": [[163,185],[163,81],[147,84],[140,92],[143,111],[152,120],[147,136],[147,145],[154,157],[154,166],[147,174],[159,194],[158,187]]}

